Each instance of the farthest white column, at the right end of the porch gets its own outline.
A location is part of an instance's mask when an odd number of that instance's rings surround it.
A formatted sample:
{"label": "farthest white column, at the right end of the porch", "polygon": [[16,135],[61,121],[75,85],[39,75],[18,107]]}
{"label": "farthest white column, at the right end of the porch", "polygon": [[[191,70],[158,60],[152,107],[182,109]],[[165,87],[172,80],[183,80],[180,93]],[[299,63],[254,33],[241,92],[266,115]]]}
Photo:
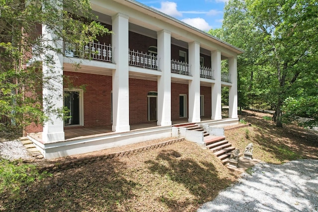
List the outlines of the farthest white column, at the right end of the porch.
{"label": "farthest white column, at the right end of the porch", "polygon": [[229,118],[238,118],[238,68],[237,57],[229,58],[232,86],[229,88]]}

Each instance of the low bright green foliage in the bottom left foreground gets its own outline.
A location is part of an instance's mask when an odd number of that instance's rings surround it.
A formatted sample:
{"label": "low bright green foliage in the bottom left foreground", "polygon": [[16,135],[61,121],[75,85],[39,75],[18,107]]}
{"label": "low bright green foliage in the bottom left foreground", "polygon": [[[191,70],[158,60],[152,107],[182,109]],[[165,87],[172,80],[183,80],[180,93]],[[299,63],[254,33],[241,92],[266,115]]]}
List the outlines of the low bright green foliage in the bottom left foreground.
{"label": "low bright green foliage in the bottom left foreground", "polygon": [[34,165],[0,158],[0,194],[6,192],[18,195],[21,188],[48,175],[46,172],[39,174]]}

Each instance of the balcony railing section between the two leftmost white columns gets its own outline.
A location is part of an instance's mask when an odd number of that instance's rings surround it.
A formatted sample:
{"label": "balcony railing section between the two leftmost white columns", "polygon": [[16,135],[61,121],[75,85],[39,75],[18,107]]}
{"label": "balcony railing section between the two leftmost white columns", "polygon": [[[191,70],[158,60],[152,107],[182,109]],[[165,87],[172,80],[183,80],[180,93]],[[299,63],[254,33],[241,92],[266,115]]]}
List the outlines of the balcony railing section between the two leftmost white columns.
{"label": "balcony railing section between the two leftmost white columns", "polygon": [[65,44],[65,55],[67,57],[78,57],[90,60],[98,60],[114,63],[113,61],[114,48],[110,45],[100,43],[88,43],[80,48],[77,45]]}

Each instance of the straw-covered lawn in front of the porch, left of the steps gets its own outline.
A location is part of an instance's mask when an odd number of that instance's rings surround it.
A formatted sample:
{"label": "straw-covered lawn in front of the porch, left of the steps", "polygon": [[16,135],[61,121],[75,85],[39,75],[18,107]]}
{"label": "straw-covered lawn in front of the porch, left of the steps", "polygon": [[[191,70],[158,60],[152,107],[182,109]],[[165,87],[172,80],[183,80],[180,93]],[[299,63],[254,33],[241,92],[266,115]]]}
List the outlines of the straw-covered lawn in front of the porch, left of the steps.
{"label": "straw-covered lawn in front of the porch, left of the steps", "polygon": [[196,211],[234,183],[237,172],[182,141],[56,172],[23,192],[12,211]]}

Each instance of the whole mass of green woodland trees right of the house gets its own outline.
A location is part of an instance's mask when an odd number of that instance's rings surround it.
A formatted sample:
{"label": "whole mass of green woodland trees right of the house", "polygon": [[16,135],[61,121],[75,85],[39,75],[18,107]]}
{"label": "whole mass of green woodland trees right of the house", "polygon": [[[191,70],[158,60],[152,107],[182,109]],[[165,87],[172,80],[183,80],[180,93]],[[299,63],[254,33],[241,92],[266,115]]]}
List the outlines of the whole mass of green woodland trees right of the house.
{"label": "whole mass of green woodland trees right of the house", "polygon": [[223,30],[214,33],[245,51],[238,57],[239,106],[266,103],[281,127],[282,107],[291,108],[286,99],[312,99],[309,89],[299,90],[318,77],[317,28],[314,0],[230,0]]}

